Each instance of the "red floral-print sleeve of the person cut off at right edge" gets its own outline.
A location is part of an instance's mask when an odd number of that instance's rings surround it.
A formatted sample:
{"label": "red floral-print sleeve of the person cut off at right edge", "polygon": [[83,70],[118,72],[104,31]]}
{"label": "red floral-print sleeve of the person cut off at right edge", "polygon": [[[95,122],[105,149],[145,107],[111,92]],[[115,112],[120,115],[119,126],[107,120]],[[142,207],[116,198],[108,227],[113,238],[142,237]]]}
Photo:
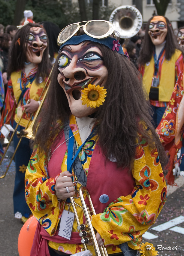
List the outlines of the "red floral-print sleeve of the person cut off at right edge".
{"label": "red floral-print sleeve of the person cut off at right edge", "polygon": [[[161,143],[166,146],[175,139],[177,128],[177,112],[179,104],[183,97],[183,73],[180,74],[174,87],[172,96],[167,105],[161,122],[159,123],[156,132]],[[174,143],[174,141],[173,141]]]}

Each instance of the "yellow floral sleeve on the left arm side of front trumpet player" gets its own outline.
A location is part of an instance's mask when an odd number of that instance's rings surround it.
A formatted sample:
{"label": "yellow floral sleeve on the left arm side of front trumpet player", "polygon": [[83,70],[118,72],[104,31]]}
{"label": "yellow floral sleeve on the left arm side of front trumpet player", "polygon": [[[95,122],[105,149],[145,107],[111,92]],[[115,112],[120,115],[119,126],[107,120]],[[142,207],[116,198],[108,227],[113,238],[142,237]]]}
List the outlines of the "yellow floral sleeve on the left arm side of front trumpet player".
{"label": "yellow floral sleeve on the left arm side of front trumpet player", "polygon": [[56,233],[60,220],[60,211],[64,207],[63,201],[58,201],[55,195],[56,178],[48,178],[44,167],[46,156],[41,158],[37,148],[32,153],[26,176],[25,189],[26,201],[34,216],[40,224],[47,228],[50,236]]}

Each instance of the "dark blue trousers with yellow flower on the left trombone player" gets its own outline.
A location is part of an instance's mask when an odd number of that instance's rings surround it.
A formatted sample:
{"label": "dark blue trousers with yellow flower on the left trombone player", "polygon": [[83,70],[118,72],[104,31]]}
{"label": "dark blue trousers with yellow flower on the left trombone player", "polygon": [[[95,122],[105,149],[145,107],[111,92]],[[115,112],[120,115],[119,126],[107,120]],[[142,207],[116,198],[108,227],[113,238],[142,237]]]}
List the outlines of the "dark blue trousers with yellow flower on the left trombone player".
{"label": "dark blue trousers with yellow flower on the left trombone player", "polygon": [[[17,123],[14,121],[13,128],[15,129],[15,126]],[[25,129],[23,126],[18,126],[17,131]],[[17,144],[19,142],[19,138],[17,138],[17,135],[14,135],[14,148],[17,147]],[[29,217],[31,214],[31,211],[26,203],[25,199],[25,173],[26,173],[26,167],[29,163],[29,159],[31,158],[32,149],[29,146],[29,139],[23,138],[20,142],[20,145],[17,149],[17,152],[15,154],[15,186],[14,186],[14,214],[17,212],[20,212],[22,216]]]}

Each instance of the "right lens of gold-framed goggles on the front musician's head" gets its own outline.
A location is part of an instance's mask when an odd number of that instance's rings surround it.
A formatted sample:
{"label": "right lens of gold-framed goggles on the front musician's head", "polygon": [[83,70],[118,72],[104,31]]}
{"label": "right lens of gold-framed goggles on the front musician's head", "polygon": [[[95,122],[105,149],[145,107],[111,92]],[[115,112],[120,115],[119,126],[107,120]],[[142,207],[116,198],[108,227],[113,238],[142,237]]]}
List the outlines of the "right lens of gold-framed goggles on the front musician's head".
{"label": "right lens of gold-framed goggles on the front musician's head", "polygon": [[103,36],[109,29],[109,23],[101,20],[91,21],[86,25],[86,31],[92,36]]}

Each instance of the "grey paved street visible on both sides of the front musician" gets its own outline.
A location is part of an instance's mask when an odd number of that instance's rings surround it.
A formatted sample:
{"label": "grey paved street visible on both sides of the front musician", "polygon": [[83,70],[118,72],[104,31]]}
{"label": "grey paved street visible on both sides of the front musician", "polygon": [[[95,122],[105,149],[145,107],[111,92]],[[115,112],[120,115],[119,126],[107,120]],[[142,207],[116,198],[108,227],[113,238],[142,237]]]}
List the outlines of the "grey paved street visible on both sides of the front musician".
{"label": "grey paved street visible on both sides of the front musician", "polygon": [[[7,160],[4,160],[3,170],[7,164]],[[0,179],[0,256],[19,256],[17,241],[23,224],[20,220],[14,219],[13,214],[14,168],[14,162],[12,162],[5,178]],[[156,223],[148,230],[149,233],[144,234],[146,238],[143,238],[144,243],[151,242],[156,248],[157,245],[162,245],[161,247],[164,248],[173,248],[177,245],[177,250],[158,250],[159,256],[184,256],[184,177],[179,177],[176,183],[178,187],[168,186],[167,202]],[[150,239],[151,236],[153,236],[152,239]]]}

